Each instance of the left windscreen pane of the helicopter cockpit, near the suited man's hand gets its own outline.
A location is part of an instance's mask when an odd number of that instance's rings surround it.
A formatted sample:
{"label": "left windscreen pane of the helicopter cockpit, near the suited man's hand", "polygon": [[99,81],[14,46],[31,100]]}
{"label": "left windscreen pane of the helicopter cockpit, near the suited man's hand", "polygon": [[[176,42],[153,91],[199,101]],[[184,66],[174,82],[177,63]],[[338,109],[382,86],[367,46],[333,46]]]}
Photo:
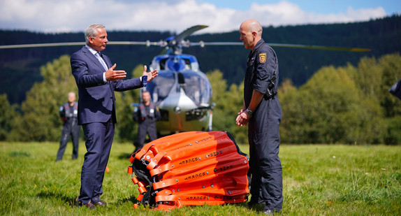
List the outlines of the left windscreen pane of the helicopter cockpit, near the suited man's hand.
{"label": "left windscreen pane of the helicopter cockpit, near the suited man's hand", "polygon": [[159,71],[159,75],[152,82],[147,83],[147,91],[152,96],[153,103],[163,101],[174,85],[174,74],[170,71]]}

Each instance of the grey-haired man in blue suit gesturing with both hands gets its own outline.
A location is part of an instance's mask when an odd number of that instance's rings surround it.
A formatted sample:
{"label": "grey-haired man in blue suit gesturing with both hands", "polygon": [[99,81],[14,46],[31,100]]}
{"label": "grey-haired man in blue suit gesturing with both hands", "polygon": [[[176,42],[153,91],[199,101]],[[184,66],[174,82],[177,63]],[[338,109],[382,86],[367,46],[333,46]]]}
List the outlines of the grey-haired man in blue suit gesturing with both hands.
{"label": "grey-haired man in blue suit gesturing with both hands", "polygon": [[[143,77],[123,80],[125,71],[114,70],[110,59],[100,52],[108,43],[102,24],[91,24],[85,31],[86,45],[71,55],[71,69],[78,85],[78,124],[87,138],[87,153],[81,171],[79,206],[94,209],[105,206],[100,199],[102,184],[115,131],[115,94],[143,87]],[[147,75],[151,81],[158,75],[154,70]]]}

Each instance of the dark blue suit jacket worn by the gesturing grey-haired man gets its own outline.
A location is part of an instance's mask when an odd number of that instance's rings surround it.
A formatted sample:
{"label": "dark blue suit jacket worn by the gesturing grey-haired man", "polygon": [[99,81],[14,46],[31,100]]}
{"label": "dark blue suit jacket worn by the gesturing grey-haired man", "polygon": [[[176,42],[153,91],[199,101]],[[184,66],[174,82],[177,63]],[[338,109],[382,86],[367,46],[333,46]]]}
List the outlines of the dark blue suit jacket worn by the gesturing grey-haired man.
{"label": "dark blue suit jacket worn by the gesturing grey-haired man", "polygon": [[[110,59],[103,55],[108,68]],[[78,124],[107,122],[115,117],[114,91],[143,87],[140,78],[103,82],[105,69],[85,46],[71,55],[71,69],[78,86]]]}

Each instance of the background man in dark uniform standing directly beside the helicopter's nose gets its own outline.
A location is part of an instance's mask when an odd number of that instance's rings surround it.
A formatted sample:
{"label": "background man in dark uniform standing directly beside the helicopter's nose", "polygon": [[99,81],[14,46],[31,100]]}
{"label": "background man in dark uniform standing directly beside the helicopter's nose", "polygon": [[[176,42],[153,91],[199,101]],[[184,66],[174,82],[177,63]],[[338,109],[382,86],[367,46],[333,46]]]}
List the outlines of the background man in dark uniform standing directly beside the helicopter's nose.
{"label": "background man in dark uniform standing directly beside the helicopter's nose", "polygon": [[157,138],[156,132],[156,121],[160,120],[159,108],[154,106],[150,101],[150,92],[142,92],[143,103],[140,103],[133,112],[133,120],[138,122],[138,141],[134,143],[136,150],[143,147],[145,143],[146,134],[149,135],[150,141],[154,141]]}

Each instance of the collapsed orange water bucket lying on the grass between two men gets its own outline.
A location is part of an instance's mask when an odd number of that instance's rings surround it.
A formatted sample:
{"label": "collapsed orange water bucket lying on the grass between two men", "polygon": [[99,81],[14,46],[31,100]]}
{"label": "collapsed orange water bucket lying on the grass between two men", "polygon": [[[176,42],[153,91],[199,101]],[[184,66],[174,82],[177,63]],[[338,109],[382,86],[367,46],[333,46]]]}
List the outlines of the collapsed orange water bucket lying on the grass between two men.
{"label": "collapsed orange water bucket lying on the grass between two men", "polygon": [[[128,173],[145,207],[247,201],[249,161],[226,131],[191,131],[164,136],[131,155]],[[138,204],[134,208],[138,208]]]}

